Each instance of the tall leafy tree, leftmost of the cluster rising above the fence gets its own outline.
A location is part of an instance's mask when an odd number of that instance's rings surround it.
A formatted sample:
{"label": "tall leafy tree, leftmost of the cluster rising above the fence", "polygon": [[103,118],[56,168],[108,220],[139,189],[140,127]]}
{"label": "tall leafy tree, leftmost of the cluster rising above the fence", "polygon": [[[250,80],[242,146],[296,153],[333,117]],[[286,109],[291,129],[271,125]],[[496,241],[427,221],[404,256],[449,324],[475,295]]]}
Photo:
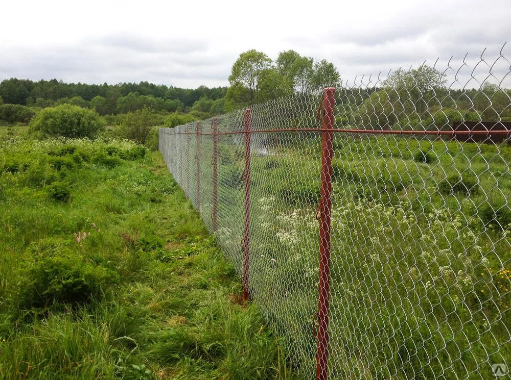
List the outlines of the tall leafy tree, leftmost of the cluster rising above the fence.
{"label": "tall leafy tree, leftmost of the cluster rising above the fence", "polygon": [[[253,104],[258,100],[257,95],[261,73],[265,69],[270,68],[270,66],[271,59],[266,54],[255,49],[248,50],[241,53],[233,64],[231,74],[229,75],[229,83],[231,86],[241,86],[248,89],[249,104]],[[227,92],[227,95],[229,95],[229,92]]]}

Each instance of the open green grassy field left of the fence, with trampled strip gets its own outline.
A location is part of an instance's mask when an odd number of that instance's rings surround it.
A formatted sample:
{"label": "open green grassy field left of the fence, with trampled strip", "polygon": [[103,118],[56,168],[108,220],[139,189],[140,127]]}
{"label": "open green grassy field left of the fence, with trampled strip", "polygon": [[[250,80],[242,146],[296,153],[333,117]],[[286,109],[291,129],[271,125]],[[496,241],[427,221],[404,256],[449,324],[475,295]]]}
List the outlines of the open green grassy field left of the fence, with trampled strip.
{"label": "open green grassy field left of the fence, with trampled strip", "polygon": [[0,378],[291,378],[159,153],[0,131]]}

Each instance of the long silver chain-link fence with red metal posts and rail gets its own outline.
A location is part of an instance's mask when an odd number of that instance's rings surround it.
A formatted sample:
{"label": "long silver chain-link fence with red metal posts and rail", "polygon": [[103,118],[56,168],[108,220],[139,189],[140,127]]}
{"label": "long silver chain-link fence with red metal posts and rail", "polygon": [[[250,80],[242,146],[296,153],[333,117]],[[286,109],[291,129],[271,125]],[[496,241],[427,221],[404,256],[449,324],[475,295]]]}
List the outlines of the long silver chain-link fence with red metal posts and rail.
{"label": "long silver chain-link fence with red metal posts and rail", "polygon": [[507,373],[511,69],[458,66],[159,130],[301,377]]}

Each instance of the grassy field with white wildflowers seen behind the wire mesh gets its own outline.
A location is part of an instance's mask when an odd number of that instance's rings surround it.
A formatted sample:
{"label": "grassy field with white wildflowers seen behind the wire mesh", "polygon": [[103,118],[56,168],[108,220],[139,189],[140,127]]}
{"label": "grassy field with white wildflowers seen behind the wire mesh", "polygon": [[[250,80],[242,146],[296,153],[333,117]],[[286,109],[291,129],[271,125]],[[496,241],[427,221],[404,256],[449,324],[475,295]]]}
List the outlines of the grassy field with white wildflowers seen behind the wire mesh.
{"label": "grassy field with white wildflowers seen behind the wire mesh", "polygon": [[[249,285],[308,378],[320,142],[284,133],[272,141],[268,156],[256,150],[251,159]],[[203,138],[201,148],[211,141]],[[334,149],[331,374],[490,378],[491,364],[511,363],[511,147],[337,135]],[[211,156],[204,156],[201,215],[211,229]],[[195,161],[188,169],[187,162],[176,178],[182,172],[194,199]],[[218,242],[241,273],[245,161],[236,137],[221,136],[218,162]]]}

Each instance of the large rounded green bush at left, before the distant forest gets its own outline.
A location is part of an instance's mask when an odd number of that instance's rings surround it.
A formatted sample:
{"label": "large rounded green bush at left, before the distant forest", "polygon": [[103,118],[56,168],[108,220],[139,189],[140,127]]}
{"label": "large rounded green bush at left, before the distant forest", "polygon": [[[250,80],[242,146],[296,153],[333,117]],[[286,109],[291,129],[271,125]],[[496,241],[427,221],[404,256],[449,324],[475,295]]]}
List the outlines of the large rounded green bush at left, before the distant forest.
{"label": "large rounded green bush at left, before the distant forest", "polygon": [[43,135],[69,138],[94,138],[103,129],[98,113],[69,104],[42,110],[30,125]]}

